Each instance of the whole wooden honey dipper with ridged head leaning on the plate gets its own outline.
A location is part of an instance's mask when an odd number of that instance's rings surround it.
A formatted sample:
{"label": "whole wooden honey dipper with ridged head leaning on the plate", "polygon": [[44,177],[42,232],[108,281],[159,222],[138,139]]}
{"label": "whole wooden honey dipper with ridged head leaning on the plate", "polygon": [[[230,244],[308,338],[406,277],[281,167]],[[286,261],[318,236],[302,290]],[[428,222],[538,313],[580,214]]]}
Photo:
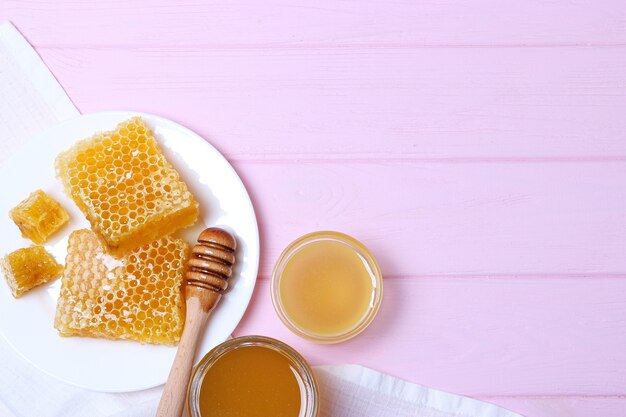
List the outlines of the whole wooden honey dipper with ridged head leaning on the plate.
{"label": "whole wooden honey dipper with ridged head leaning on the plate", "polygon": [[209,314],[228,287],[237,242],[230,233],[212,227],[198,236],[185,274],[187,314],[176,358],[163,389],[157,417],[180,417],[196,354],[198,336]]}

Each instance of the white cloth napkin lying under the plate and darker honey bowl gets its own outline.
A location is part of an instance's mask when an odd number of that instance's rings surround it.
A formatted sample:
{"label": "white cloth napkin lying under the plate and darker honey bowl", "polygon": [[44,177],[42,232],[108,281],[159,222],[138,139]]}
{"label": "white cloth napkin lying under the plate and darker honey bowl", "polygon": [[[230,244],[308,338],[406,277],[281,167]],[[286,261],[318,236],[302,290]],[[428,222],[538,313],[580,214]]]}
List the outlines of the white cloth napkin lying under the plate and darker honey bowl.
{"label": "white cloth napkin lying under the plate and darker honey bowl", "polygon": [[[33,135],[79,114],[9,22],[0,23],[0,92],[0,163]],[[320,417],[521,417],[495,405],[357,365],[322,366],[315,368],[315,373]],[[157,387],[108,394],[76,388],[34,368],[0,338],[2,417],[152,417],[161,391],[162,387]]]}

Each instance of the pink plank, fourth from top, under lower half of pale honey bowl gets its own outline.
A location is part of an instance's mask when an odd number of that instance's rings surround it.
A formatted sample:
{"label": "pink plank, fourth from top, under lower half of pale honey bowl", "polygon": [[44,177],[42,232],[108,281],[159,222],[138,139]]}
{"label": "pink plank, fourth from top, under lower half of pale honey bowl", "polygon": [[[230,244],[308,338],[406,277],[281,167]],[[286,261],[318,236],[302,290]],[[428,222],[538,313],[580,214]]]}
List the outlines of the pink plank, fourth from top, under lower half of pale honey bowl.
{"label": "pink plank, fourth from top, under lower half of pale honey bowl", "polygon": [[279,321],[261,280],[235,334],[276,337],[314,365],[357,363],[463,395],[623,395],[624,317],[625,279],[391,279],[368,329],[320,345]]}

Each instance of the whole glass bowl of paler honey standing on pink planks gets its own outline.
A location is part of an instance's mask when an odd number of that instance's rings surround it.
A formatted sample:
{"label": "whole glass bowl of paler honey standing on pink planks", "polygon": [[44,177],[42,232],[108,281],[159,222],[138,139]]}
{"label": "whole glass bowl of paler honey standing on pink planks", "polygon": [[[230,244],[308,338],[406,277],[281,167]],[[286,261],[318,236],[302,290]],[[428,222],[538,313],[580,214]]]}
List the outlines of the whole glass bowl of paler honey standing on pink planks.
{"label": "whole glass bowl of paler honey standing on pink planks", "polygon": [[283,323],[307,340],[337,343],[372,322],[383,296],[380,268],[358,240],[314,232],[280,255],[271,281],[272,303]]}

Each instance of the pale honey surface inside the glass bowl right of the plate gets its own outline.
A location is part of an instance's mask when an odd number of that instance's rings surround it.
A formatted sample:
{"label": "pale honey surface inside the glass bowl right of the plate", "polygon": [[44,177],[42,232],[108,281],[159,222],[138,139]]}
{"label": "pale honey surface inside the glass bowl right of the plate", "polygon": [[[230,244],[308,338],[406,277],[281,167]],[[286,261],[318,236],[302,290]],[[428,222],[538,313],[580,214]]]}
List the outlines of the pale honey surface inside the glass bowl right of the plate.
{"label": "pale honey surface inside the glass bowl right of the plate", "polygon": [[350,246],[311,242],[287,261],[280,280],[285,314],[302,330],[320,336],[354,328],[370,308],[373,276]]}

